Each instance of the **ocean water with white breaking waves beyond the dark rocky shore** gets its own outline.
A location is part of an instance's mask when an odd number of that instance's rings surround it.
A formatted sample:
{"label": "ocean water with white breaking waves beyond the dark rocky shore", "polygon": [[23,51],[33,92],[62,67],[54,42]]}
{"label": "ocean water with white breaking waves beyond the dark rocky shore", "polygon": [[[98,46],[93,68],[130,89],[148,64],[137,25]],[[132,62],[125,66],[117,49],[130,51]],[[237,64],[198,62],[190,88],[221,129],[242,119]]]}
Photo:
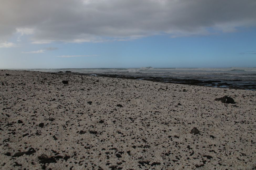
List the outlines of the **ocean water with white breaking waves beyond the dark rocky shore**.
{"label": "ocean water with white breaking waves beyond the dark rocky shore", "polygon": [[[17,70],[17,69],[16,69]],[[86,75],[117,75],[133,76],[139,80],[144,78],[160,77],[170,80],[174,79],[196,79],[200,81],[221,81],[218,83],[205,84],[212,87],[243,87],[243,89],[255,90],[256,88],[256,67],[230,67],[230,68],[92,68],[92,69],[22,69],[27,71],[42,72],[65,72],[71,71]],[[223,84],[226,83],[226,84]]]}

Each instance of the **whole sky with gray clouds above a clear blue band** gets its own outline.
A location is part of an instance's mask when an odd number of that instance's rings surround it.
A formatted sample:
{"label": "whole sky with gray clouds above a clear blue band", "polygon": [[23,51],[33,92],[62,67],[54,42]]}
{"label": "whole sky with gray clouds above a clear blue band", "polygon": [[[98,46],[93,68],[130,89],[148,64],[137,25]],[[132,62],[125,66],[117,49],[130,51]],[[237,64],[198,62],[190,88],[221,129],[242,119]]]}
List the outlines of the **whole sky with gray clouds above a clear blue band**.
{"label": "whole sky with gray clouds above a clear blue band", "polygon": [[0,69],[256,67],[255,0],[0,0]]}

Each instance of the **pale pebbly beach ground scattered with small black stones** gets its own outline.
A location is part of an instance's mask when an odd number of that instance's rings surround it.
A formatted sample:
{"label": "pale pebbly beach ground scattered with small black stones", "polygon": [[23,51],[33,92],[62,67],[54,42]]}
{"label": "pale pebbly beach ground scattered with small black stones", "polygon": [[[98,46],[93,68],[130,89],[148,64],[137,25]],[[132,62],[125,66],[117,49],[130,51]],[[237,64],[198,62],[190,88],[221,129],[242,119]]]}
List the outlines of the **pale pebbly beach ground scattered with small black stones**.
{"label": "pale pebbly beach ground scattered with small black stones", "polygon": [[[256,168],[255,91],[64,73],[0,76],[0,169]],[[214,101],[224,95],[236,103]],[[200,134],[190,133],[194,127]]]}

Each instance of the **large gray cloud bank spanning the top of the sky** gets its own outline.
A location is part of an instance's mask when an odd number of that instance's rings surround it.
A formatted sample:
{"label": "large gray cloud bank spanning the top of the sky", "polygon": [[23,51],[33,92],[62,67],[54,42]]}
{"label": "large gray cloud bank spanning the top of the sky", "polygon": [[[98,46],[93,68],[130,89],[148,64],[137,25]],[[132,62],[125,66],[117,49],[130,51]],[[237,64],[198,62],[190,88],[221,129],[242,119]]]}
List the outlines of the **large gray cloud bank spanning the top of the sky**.
{"label": "large gray cloud bank spanning the top of the sky", "polygon": [[232,32],[255,26],[255,0],[2,0],[0,39],[33,43],[123,41]]}

